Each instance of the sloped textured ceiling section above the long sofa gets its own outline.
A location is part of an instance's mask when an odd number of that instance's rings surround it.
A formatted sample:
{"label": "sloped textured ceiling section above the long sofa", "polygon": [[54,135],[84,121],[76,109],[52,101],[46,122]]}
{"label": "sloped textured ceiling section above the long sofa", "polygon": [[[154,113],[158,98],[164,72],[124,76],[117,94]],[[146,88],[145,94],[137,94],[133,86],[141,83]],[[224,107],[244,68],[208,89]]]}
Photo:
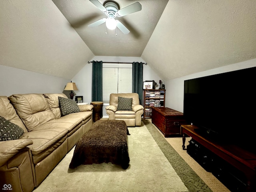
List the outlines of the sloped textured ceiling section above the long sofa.
{"label": "sloped textured ceiling section above the long sofa", "polygon": [[0,64],[71,79],[94,57],[51,0],[0,0]]}

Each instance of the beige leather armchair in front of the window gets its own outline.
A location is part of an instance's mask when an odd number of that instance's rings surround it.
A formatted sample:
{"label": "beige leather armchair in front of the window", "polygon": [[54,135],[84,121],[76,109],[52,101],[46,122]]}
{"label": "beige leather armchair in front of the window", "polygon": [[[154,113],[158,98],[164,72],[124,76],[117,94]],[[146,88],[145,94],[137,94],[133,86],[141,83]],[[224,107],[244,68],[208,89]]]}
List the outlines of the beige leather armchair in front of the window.
{"label": "beige leather armchair in front of the window", "polygon": [[[118,110],[118,97],[132,98],[131,110]],[[118,93],[110,94],[109,106],[106,106],[106,113],[110,120],[124,120],[129,127],[140,126],[143,106],[140,105],[139,95],[137,93]]]}

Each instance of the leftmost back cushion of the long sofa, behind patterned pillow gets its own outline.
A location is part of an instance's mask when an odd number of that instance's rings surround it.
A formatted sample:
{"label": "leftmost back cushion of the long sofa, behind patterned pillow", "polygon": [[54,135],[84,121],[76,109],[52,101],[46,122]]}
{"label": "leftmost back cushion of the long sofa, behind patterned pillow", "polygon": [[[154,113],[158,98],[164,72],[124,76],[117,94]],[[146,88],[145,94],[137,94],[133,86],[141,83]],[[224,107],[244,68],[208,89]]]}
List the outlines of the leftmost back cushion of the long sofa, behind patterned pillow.
{"label": "leftmost back cushion of the long sofa, behind patterned pillow", "polygon": [[22,120],[17,115],[16,110],[14,109],[12,104],[10,104],[10,100],[8,100],[6,96],[0,96],[0,116],[18,125],[24,130],[24,132],[28,132]]}

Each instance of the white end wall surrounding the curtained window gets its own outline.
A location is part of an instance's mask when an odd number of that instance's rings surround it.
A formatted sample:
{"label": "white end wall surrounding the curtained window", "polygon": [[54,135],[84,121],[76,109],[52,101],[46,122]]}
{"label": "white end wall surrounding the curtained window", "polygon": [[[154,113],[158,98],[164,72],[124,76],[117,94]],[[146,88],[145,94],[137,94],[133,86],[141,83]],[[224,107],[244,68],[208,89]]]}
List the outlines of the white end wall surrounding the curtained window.
{"label": "white end wall surrounding the curtained window", "polygon": [[[145,62],[140,57],[114,56],[95,56],[92,60],[103,62]],[[155,80],[159,82],[160,79],[161,78],[148,65],[143,65],[143,81]],[[78,91],[74,91],[76,96],[83,96],[83,102],[90,103],[92,101],[92,63],[86,64],[86,66],[72,78],[72,82],[75,82],[78,88]],[[106,116],[105,107],[104,105],[103,116]]]}

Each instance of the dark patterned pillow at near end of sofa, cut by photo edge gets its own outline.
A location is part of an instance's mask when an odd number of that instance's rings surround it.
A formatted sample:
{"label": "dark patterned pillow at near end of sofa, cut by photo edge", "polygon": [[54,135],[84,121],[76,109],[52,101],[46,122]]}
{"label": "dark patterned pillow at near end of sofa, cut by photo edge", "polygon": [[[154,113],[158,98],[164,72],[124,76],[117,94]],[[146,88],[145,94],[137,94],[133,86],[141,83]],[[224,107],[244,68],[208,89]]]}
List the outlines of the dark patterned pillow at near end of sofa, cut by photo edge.
{"label": "dark patterned pillow at near end of sofa, cut by photo edge", "polygon": [[18,125],[0,116],[0,141],[16,140],[24,133]]}

